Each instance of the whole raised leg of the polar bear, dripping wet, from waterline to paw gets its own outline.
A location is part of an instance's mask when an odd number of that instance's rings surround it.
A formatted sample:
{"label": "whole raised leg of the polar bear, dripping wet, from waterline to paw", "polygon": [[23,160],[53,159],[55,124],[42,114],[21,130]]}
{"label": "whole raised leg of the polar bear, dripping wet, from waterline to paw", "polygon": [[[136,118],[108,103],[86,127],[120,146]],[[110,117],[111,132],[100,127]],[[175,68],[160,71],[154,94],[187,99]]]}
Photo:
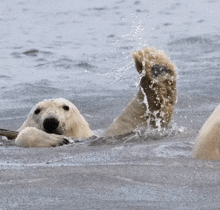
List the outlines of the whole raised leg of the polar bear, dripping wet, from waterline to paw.
{"label": "whole raised leg of the polar bear, dripping wet, from waterline to paw", "polygon": [[141,76],[138,93],[105,136],[122,135],[140,125],[164,128],[172,119],[177,99],[175,65],[153,47],[134,52],[133,58]]}

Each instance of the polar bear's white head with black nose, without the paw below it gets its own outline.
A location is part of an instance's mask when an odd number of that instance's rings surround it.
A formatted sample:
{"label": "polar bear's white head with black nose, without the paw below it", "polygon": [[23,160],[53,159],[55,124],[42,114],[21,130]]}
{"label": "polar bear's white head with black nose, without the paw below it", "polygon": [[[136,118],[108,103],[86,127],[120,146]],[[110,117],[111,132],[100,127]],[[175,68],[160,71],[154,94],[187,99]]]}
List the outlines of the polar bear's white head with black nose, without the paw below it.
{"label": "polar bear's white head with black nose, without the paw below it", "polygon": [[75,138],[93,135],[76,106],[63,98],[47,99],[36,104],[18,131],[26,127]]}

